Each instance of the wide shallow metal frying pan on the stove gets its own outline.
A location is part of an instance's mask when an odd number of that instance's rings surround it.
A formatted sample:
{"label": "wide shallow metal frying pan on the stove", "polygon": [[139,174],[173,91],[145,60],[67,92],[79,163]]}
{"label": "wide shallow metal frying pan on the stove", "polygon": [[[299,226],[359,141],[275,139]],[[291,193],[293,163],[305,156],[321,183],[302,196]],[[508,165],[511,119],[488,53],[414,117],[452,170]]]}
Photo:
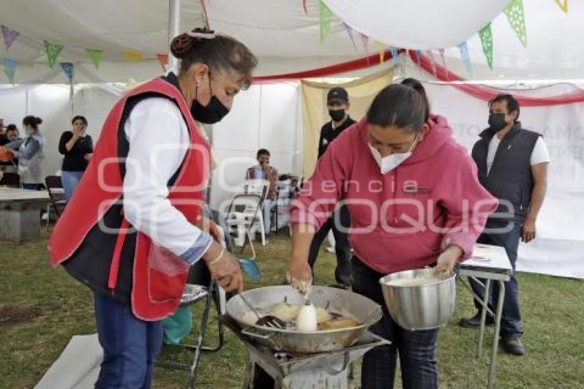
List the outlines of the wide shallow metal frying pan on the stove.
{"label": "wide shallow metal frying pan on the stove", "polygon": [[[271,307],[280,302],[304,304],[300,294],[288,285],[262,287],[243,292],[254,308],[269,313]],[[313,287],[309,299],[316,307],[328,307],[333,312],[346,312],[357,319],[359,326],[347,329],[324,331],[295,331],[271,329],[249,324],[243,316],[249,308],[239,297],[234,296],[227,302],[227,314],[243,328],[243,333],[254,337],[261,344],[275,350],[289,353],[324,353],[339,351],[354,344],[361,334],[381,319],[381,306],[352,291],[331,287]]]}

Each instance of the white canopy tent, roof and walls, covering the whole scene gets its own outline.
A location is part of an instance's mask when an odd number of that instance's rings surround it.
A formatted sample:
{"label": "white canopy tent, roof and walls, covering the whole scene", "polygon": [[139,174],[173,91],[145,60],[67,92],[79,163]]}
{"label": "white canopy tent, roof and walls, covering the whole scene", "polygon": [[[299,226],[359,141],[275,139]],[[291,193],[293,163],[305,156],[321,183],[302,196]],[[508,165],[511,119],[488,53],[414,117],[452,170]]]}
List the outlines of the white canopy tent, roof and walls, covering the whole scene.
{"label": "white canopy tent, roof and walls, covering the whole scene", "polygon": [[[256,53],[260,59],[256,74],[260,76],[315,69],[376,54],[378,47],[374,39],[365,45],[357,33],[360,31],[383,40],[386,45],[407,49],[445,48],[448,69],[463,77],[467,77],[464,63],[458,48],[452,45],[468,41],[475,82],[488,80],[491,85],[498,82],[504,84],[499,86],[517,87],[517,81],[522,80],[521,89],[533,89],[527,92],[529,96],[579,90],[582,85],[574,81],[571,85],[541,87],[549,84],[548,80],[584,79],[584,48],[578,42],[584,36],[582,2],[570,2],[570,12],[564,13],[554,0],[524,0],[527,48],[521,46],[506,16],[500,14],[506,1],[480,2],[480,7],[484,7],[481,12],[476,12],[479,2],[466,0],[441,0],[440,12],[434,9],[438,6],[434,1],[411,1],[405,8],[403,2],[396,0],[325,2],[339,14],[344,14],[342,7],[359,3],[358,13],[366,16],[365,19],[351,20],[350,16],[357,11],[345,16],[346,23],[352,26],[355,45],[337,16],[333,16],[326,39],[322,43],[319,41],[319,3],[315,0],[307,1],[307,14],[300,0],[212,0],[205,4],[214,30],[236,36]],[[464,8],[469,3],[480,17],[469,19],[472,12]],[[0,0],[0,23],[20,32],[8,51],[0,47],[0,59],[9,58],[19,63],[16,69],[19,85],[16,87],[9,85],[8,78],[0,74],[0,83],[4,84],[0,85],[0,118],[5,119],[5,124],[19,124],[26,114],[43,118],[43,131],[49,138],[47,173],[53,173],[60,164],[56,142],[60,131],[68,129],[71,108],[69,80],[58,65],[54,69],[47,66],[43,40],[65,46],[58,61],[75,65],[78,85],[74,113],[87,116],[89,133],[96,138],[107,112],[128,84],[162,73],[157,54],[167,50],[168,5],[168,1],[161,0]],[[417,8],[409,5],[417,5]],[[417,12],[412,13],[412,9]],[[495,16],[497,14],[499,16]],[[493,17],[494,70],[491,70],[486,66],[480,40],[473,31]],[[201,25],[200,19],[200,1],[182,0],[181,31]],[[377,23],[363,24],[363,21],[374,19]],[[459,23],[462,25],[458,26]],[[383,30],[372,30],[384,25],[392,25],[388,27],[392,34],[383,35]],[[432,36],[432,41],[408,47],[422,42],[412,41],[412,36]],[[442,43],[446,46],[440,47]],[[104,52],[99,69],[95,69],[85,52],[89,48]],[[140,52],[144,59],[126,60],[124,53],[128,50]],[[438,58],[436,51],[434,55]],[[392,65],[395,63],[338,76],[371,74]],[[434,80],[411,61],[405,67],[396,67],[396,74]],[[460,142],[471,146],[486,125],[484,102],[447,85],[429,83],[427,88],[433,109],[451,120]],[[273,164],[281,173],[302,175],[300,102],[297,82],[254,85],[241,93],[232,113],[212,129],[214,150],[220,164],[225,164],[227,157],[236,158],[229,161],[232,164],[229,168],[218,170],[214,180],[223,179],[232,186],[240,184],[244,169],[254,163],[255,152],[260,147],[272,151]],[[579,184],[584,182],[584,136],[579,130],[584,128],[583,106],[541,107],[524,109],[521,113],[528,126],[544,132],[546,140],[550,140],[548,144],[552,146],[554,161],[550,196],[541,217],[545,226],[536,244],[522,248],[530,250],[530,260],[519,265],[523,269],[584,278],[578,254],[583,251],[584,238],[566,228],[569,224],[576,230],[584,230],[584,217],[576,217],[579,214],[573,210],[574,201],[579,201],[584,194],[584,184]],[[563,135],[554,137],[554,130]],[[212,201],[217,205],[229,195],[229,192],[214,188]],[[571,215],[570,223],[565,223],[566,214]],[[554,262],[558,252],[565,261],[561,265]]]}

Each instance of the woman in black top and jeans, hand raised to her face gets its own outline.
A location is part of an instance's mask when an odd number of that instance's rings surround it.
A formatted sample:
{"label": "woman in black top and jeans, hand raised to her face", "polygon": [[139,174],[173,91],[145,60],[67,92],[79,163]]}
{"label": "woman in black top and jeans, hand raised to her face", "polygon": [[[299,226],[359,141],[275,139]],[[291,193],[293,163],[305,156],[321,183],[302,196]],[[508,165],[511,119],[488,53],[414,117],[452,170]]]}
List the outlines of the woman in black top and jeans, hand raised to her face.
{"label": "woman in black top and jeans, hand raised to her face", "polygon": [[59,153],[65,155],[63,168],[61,168],[61,181],[63,181],[67,201],[73,196],[93,153],[93,141],[85,132],[87,119],[84,116],[76,116],[71,120],[71,126],[71,131],[65,131],[59,140]]}

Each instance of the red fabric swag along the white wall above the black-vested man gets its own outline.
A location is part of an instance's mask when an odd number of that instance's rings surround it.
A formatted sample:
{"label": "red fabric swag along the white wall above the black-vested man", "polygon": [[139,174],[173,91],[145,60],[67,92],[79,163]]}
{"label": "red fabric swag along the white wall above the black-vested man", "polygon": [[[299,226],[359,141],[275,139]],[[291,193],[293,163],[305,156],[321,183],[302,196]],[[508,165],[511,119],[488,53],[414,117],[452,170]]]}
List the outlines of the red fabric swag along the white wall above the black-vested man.
{"label": "red fabric swag along the white wall above the black-vested man", "polygon": [[[420,66],[422,69],[427,71],[429,74],[433,73],[433,67],[431,61],[427,56],[420,56],[420,63],[418,64],[418,58],[416,57],[416,53],[409,51],[409,56],[412,58],[414,63]],[[436,67],[436,78],[440,81],[464,81],[464,78],[458,76],[458,74],[454,74],[448,69],[445,69],[442,65],[435,63]],[[470,85],[470,84],[451,84],[451,86],[467,93],[475,98],[484,101],[490,101],[495,96],[497,96],[501,91],[495,89],[493,87],[487,87],[486,85]],[[573,104],[576,102],[584,102],[584,91],[576,91],[573,93],[566,93],[560,96],[550,96],[548,98],[534,98],[534,97],[527,97],[527,96],[519,96],[517,93],[514,93],[515,98],[521,105],[521,107],[545,107],[551,105],[561,105],[561,104]]]}

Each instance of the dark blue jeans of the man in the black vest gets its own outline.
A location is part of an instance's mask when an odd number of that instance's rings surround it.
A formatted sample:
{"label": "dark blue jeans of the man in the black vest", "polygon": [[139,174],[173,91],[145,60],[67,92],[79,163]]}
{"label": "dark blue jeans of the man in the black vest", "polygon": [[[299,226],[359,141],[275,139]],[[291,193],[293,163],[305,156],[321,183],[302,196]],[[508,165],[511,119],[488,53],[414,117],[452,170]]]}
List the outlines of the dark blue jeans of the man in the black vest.
{"label": "dark blue jeans of the man in the black vest", "polygon": [[[510,228],[506,228],[508,232],[489,231],[494,229],[502,230],[509,225]],[[478,238],[478,243],[504,247],[509,262],[513,267],[513,276],[511,276],[510,280],[505,282],[501,335],[521,335],[521,333],[523,333],[523,331],[521,331],[521,313],[519,311],[519,285],[517,283],[517,278],[515,278],[515,262],[517,261],[519,238],[521,238],[521,222],[501,221],[495,219],[488,219],[485,225],[485,232],[483,232]],[[484,283],[484,280],[481,281]],[[483,287],[472,279],[470,282],[473,291],[475,291],[475,293],[481,298],[484,298]],[[499,298],[498,283],[491,283],[490,295],[491,296],[488,296],[488,305],[489,308],[493,309]],[[477,300],[475,300],[475,307],[477,307],[479,311],[482,309],[481,304]]]}

